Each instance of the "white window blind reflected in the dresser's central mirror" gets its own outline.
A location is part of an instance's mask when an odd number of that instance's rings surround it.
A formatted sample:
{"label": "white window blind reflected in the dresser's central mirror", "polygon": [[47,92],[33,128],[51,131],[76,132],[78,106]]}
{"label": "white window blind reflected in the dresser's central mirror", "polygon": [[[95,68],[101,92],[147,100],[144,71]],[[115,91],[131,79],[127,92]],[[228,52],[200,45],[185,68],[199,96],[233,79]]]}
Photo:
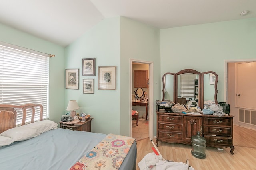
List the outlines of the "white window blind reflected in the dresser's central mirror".
{"label": "white window blind reflected in the dresser's central mirror", "polygon": [[196,79],[196,74],[182,74],[180,75],[180,96],[186,98],[195,98],[195,83],[194,79]]}

